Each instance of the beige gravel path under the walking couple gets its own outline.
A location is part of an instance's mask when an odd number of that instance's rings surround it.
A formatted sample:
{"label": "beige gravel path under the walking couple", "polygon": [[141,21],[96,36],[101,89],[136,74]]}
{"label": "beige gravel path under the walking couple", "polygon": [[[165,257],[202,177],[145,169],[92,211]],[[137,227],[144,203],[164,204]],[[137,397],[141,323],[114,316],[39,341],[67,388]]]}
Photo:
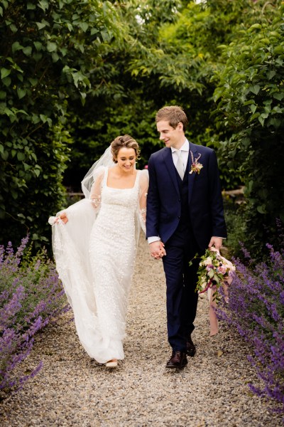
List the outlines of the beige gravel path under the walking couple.
{"label": "beige gravel path under the walking couple", "polygon": [[200,298],[192,338],[197,354],[168,371],[165,280],[141,238],[129,300],[126,359],[108,370],[89,359],[67,313],[38,334],[26,369],[43,369],[0,405],[0,425],[15,426],[282,426],[282,417],[251,394],[256,380],[248,349],[225,325],[209,337],[208,304]]}

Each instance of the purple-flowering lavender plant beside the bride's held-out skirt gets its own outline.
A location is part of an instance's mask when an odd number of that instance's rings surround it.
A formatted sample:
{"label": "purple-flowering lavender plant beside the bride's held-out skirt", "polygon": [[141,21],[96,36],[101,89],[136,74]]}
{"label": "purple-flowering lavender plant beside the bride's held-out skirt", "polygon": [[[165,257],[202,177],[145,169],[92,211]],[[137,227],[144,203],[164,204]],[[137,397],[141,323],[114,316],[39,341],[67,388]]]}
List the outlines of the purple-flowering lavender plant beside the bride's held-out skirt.
{"label": "purple-flowering lavender plant beside the bride's held-out skirt", "polygon": [[[11,243],[0,246],[0,390],[18,389],[35,376],[16,374],[16,367],[31,353],[34,336],[67,310],[64,290],[55,265],[44,251],[34,258],[24,254],[28,237],[16,253]],[[26,251],[27,252],[27,251]],[[18,371],[18,369],[17,369]]]}

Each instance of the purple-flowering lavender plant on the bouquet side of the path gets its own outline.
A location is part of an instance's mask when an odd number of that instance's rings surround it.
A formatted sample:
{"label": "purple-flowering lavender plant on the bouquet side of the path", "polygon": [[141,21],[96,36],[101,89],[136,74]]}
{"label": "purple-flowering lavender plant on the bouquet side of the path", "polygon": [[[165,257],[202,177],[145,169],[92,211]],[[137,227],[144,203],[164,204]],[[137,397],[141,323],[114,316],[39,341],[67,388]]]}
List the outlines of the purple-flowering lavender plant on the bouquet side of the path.
{"label": "purple-flowering lavender plant on the bouquet side of the path", "polygon": [[[282,235],[281,235],[282,236]],[[249,360],[262,386],[251,390],[275,400],[284,413],[284,250],[267,244],[269,260],[253,265],[244,249],[247,265],[234,260],[236,274],[229,289],[229,302],[222,303],[218,316],[236,327],[253,348]]]}

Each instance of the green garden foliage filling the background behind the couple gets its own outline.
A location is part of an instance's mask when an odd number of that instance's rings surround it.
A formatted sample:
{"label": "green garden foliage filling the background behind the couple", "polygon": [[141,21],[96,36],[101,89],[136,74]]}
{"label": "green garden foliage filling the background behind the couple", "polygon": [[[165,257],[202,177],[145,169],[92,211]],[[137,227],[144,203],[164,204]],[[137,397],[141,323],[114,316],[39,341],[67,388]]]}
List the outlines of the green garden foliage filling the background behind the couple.
{"label": "green garden foliage filling the background behind the couple", "polygon": [[244,203],[224,200],[226,246],[269,263],[266,243],[283,243],[283,11],[280,0],[0,0],[0,243],[29,233],[31,253],[50,251],[66,187],[80,191],[125,133],[143,168],[163,145],[156,110],[181,105],[187,137],[217,151],[222,188],[244,186]]}

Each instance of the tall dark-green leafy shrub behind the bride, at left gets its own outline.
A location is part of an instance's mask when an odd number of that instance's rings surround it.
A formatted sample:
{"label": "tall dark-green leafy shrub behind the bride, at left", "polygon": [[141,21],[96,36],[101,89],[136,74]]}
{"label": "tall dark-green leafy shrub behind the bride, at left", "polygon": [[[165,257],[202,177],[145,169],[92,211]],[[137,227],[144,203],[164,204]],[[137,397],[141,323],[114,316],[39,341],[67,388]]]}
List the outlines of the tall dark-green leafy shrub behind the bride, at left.
{"label": "tall dark-green leafy shrub behind the bride, at left", "polygon": [[65,205],[67,112],[75,101],[82,108],[116,14],[99,0],[0,4],[0,242],[30,233],[38,249],[50,240],[50,212]]}

